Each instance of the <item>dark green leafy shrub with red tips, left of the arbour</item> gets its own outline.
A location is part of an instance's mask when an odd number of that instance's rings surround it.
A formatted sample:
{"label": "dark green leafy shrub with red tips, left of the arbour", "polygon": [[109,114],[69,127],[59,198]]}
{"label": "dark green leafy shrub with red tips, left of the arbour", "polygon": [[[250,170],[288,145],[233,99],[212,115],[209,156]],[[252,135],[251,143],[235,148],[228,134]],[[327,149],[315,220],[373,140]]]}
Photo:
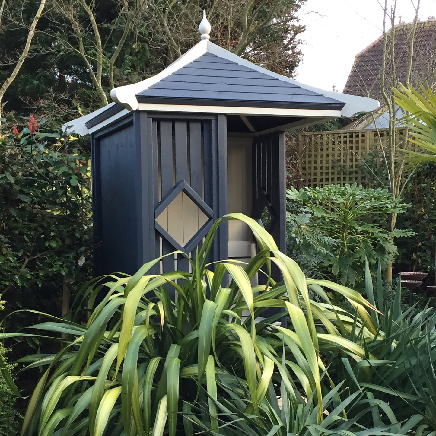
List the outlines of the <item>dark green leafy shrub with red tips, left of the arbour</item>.
{"label": "dark green leafy shrub with red tips, left of the arbour", "polygon": [[72,147],[74,137],[38,132],[33,117],[24,129],[8,127],[0,139],[0,293],[12,310],[39,310],[44,293],[54,301],[63,285],[89,277],[89,157]]}

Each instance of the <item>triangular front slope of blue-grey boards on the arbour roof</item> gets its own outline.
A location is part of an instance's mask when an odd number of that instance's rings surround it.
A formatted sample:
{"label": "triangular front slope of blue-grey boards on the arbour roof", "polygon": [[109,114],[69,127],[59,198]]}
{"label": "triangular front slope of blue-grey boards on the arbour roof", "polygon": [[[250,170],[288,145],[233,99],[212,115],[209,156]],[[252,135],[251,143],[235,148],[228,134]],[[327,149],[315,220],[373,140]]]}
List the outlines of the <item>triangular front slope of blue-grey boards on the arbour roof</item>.
{"label": "triangular front slope of blue-grey boards on the arbour roof", "polygon": [[321,109],[344,106],[343,102],[211,53],[136,95],[138,102],[167,104]]}

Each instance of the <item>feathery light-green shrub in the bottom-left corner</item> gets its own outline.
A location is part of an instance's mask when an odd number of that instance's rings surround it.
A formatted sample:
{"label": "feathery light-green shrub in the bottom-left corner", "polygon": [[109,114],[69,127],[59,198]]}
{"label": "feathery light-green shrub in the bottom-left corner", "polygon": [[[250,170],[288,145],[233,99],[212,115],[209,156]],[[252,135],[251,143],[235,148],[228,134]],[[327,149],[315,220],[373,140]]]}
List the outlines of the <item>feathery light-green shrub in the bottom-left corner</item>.
{"label": "feathery light-green shrub in the bottom-left corner", "polygon": [[[1,299],[0,295],[0,311],[3,310],[3,304],[6,303]],[[0,360],[3,363],[4,370],[12,371],[14,366],[8,364],[5,358],[5,349],[3,348],[2,343],[0,342]],[[3,379],[2,374],[0,372],[0,436],[10,436],[15,435],[18,430],[19,425],[19,414],[14,409],[15,402],[17,397],[10,390],[6,381]]]}

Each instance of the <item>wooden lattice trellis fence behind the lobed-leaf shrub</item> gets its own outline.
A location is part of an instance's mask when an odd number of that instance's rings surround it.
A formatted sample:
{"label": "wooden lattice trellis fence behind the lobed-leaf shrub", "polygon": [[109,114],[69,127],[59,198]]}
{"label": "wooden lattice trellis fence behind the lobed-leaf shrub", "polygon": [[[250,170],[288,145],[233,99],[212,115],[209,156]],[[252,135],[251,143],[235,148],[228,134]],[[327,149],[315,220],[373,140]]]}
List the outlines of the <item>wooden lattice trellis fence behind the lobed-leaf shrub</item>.
{"label": "wooden lattice trellis fence behind the lobed-leaf shrub", "polygon": [[[403,132],[403,129],[396,131],[398,143],[402,141]],[[300,133],[298,154],[303,184],[310,187],[364,184],[359,165],[371,150],[381,148],[388,149],[387,129]]]}

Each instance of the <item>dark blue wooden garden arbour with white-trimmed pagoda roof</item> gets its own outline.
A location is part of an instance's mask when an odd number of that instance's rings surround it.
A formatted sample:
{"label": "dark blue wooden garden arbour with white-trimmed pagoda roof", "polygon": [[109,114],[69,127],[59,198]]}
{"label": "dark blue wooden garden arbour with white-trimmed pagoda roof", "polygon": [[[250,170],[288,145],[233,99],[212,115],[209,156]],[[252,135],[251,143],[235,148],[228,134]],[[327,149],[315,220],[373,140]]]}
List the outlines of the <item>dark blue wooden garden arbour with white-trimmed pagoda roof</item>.
{"label": "dark blue wooden garden arbour with white-trimmed pagoda roof", "polygon": [[[285,132],[378,107],[269,72],[209,41],[163,72],[115,88],[113,103],[66,126],[92,143],[95,273],[133,273],[192,253],[213,221],[240,211],[286,250]],[[233,225],[233,224],[232,224]],[[221,225],[211,260],[249,259],[252,235]],[[155,272],[189,269],[168,256]]]}

